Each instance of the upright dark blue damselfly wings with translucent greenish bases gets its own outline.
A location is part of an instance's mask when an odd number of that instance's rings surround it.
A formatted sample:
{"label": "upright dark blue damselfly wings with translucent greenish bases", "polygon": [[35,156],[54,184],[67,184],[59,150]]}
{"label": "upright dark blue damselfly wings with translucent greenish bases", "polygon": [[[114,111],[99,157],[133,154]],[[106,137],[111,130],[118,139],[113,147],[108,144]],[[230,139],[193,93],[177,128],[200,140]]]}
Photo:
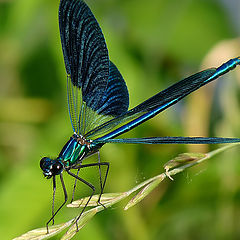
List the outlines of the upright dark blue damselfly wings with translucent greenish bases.
{"label": "upright dark blue damselfly wings with translucent greenish bases", "polygon": [[[121,74],[109,61],[101,28],[83,1],[61,0],[59,28],[72,127],[84,135],[124,114],[128,91]],[[118,95],[113,96],[116,92]]]}

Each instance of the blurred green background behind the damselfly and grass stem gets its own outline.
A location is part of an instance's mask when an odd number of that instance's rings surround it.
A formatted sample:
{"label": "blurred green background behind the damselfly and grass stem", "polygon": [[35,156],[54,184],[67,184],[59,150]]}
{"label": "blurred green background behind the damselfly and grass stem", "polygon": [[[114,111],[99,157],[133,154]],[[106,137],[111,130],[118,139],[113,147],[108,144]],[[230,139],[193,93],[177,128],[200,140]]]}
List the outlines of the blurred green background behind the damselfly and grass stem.
{"label": "blurred green background behind the damselfly and grass stem", "polygon": [[[199,69],[240,55],[238,0],[86,2],[127,82],[130,107]],[[72,134],[58,5],[58,0],[0,1],[1,239],[45,226],[52,185],[39,160],[57,156]],[[124,137],[239,137],[239,84],[238,69]],[[161,173],[179,153],[216,147],[108,144],[101,150],[102,161],[111,163],[105,192],[128,190]],[[164,181],[128,211],[120,203],[97,214],[74,239],[239,239],[239,154],[236,147]],[[81,176],[97,185],[97,174],[95,169]],[[78,197],[87,194],[81,187]],[[77,212],[64,208],[56,222]]]}

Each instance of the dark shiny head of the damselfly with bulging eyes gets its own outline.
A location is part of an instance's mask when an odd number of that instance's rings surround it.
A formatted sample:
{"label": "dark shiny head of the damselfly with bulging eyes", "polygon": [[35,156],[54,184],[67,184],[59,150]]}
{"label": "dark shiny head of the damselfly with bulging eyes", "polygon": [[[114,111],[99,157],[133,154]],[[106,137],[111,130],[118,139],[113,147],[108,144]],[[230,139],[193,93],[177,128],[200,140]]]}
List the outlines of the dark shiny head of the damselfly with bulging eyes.
{"label": "dark shiny head of the damselfly with bulging eyes", "polygon": [[52,176],[59,175],[63,171],[63,164],[59,159],[51,159],[44,157],[40,161],[40,167],[43,170],[43,175],[46,178],[51,178]]}

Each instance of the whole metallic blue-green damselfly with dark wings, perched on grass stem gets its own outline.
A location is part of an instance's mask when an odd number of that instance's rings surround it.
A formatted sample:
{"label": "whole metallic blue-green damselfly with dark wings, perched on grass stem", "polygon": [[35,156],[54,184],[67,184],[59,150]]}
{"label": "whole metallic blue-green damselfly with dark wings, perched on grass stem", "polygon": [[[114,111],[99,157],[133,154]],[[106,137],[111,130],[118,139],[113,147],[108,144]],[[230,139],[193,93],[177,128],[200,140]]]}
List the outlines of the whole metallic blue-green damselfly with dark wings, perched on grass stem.
{"label": "whole metallic blue-green damselfly with dark wings, perched on grass stem", "polygon": [[[102,30],[86,3],[82,0],[61,0],[59,28],[68,79],[68,107],[73,135],[57,158],[44,157],[40,161],[44,176],[53,179],[52,217],[47,222],[47,229],[48,224],[51,221],[54,222],[55,215],[68,199],[63,171],[92,189],[92,194],[76,219],[76,225],[95,193],[95,187],[79,177],[80,169],[94,166],[99,169],[101,192],[98,203],[102,205],[100,200],[108,175],[109,163],[101,162],[100,157],[96,163],[85,164],[83,160],[99,152],[99,149],[106,143],[218,144],[240,142],[239,138],[221,137],[116,139],[117,136],[153,118],[200,87],[233,70],[240,65],[239,57],[227,61],[218,68],[209,68],[193,74],[128,110],[129,95],[126,83],[117,67],[110,61]],[[103,181],[101,167],[107,167]],[[71,171],[73,169],[78,170],[77,174]],[[57,176],[60,177],[65,200],[54,211]],[[73,195],[75,187],[76,182]]]}

